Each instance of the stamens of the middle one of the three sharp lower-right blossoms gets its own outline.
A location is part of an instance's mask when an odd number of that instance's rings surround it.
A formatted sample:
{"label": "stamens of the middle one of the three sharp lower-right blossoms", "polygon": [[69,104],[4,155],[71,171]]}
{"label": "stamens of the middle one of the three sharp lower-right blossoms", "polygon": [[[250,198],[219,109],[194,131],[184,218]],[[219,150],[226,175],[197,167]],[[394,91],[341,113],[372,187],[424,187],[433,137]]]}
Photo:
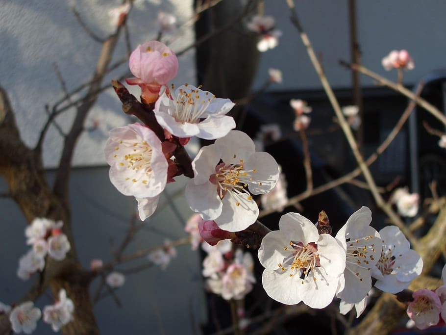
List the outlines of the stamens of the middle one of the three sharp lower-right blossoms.
{"label": "stamens of the middle one of the three sharp lower-right blossoms", "polygon": [[[350,270],[348,265],[355,265],[367,269],[370,271],[369,262],[374,260],[374,243],[371,243],[373,236],[364,236],[356,239],[347,239],[347,269]],[[351,271],[351,270],[350,270]],[[351,271],[353,272],[353,271]],[[359,277],[359,272],[353,272],[354,275],[359,279],[360,282],[363,278]]]}

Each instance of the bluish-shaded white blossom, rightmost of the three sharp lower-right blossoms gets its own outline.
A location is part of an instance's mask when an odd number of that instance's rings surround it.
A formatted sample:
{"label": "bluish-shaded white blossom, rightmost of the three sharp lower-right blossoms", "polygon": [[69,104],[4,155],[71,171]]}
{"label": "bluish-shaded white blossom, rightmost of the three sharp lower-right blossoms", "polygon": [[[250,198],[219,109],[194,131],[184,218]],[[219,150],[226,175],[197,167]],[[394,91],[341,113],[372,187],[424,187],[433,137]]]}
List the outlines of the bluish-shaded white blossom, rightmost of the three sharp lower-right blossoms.
{"label": "bluish-shaded white blossom, rightmost of the three sharp lower-right blossoms", "polygon": [[382,253],[372,267],[372,277],[377,279],[375,287],[388,293],[397,293],[409,286],[412,279],[421,274],[423,260],[410,249],[409,241],[395,226],[379,231]]}

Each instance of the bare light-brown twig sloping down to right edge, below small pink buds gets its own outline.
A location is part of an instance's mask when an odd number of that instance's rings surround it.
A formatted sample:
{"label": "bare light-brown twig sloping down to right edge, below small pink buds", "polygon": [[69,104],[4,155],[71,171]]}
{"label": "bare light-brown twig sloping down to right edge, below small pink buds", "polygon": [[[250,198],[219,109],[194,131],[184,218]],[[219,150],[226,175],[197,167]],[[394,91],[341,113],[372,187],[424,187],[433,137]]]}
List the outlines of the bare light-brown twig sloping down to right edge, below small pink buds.
{"label": "bare light-brown twig sloping down to right edge, below small pink buds", "polygon": [[422,108],[427,110],[429,113],[431,113],[433,116],[435,116],[438,120],[440,120],[446,126],[446,116],[437,107],[435,107],[431,103],[428,103],[423,98],[417,97],[413,92],[411,92],[410,90],[405,88],[403,85],[396,84],[396,83],[370,71],[369,69],[366,69],[362,65],[350,64],[350,63],[347,63],[342,60],[340,61],[340,64],[343,66],[346,66],[348,68],[351,68],[353,70],[357,70],[357,71],[361,72],[363,75],[366,75],[368,77],[375,79],[376,81],[378,81],[379,84],[387,86],[387,87],[395,90],[396,92],[401,93],[402,95],[406,96],[407,98],[414,100],[419,106],[421,106]]}

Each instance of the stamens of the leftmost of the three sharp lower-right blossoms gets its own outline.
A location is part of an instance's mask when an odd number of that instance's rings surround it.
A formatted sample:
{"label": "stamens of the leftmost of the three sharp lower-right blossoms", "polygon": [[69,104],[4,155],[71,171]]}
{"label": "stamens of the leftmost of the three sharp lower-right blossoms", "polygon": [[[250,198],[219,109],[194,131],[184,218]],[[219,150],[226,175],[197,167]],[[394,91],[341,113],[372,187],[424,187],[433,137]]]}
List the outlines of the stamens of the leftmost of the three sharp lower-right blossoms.
{"label": "stamens of the leftmost of the three sharp lower-right blossoms", "polygon": [[[314,242],[303,245],[302,242],[290,241],[289,246],[283,247],[283,250],[290,250],[291,254],[284,258],[282,263],[277,265],[282,271],[290,269],[290,277],[293,277],[297,273],[302,279],[302,284],[315,266],[321,266],[318,246]],[[316,277],[313,277],[313,280],[316,281]]]}

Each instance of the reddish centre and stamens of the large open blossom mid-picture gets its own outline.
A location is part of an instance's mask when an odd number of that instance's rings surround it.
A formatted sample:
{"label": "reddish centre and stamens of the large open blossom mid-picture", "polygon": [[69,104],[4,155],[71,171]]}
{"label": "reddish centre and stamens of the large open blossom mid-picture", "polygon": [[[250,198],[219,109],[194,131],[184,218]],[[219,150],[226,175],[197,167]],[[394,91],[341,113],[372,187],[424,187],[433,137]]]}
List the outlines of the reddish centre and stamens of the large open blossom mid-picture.
{"label": "reddish centre and stamens of the large open blossom mid-picture", "polygon": [[[236,199],[236,206],[240,206],[241,202],[251,201],[252,196],[246,189],[247,182],[252,181],[251,174],[257,172],[256,169],[245,170],[243,167],[243,159],[237,164],[220,163],[215,167],[217,172],[209,177],[209,181],[217,185],[217,193],[220,199],[223,199],[227,192],[230,192]],[[259,183],[261,185],[261,183]]]}

